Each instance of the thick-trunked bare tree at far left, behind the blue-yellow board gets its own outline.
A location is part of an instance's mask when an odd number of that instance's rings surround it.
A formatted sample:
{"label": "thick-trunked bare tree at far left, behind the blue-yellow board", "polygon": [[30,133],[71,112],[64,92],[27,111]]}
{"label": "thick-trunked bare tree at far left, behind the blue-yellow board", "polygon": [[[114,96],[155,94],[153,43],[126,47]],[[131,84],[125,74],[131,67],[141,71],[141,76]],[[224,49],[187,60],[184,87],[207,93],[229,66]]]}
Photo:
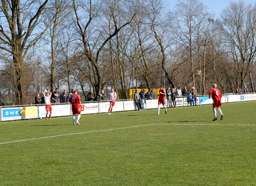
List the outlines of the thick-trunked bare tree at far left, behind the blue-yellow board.
{"label": "thick-trunked bare tree at far left, behind the blue-yellow board", "polygon": [[8,56],[7,61],[13,68],[13,85],[19,105],[25,102],[24,70],[30,66],[27,55],[49,26],[42,27],[41,24],[47,3],[48,0],[22,4],[19,0],[12,3],[2,0],[0,4],[0,49],[3,50],[2,56]]}

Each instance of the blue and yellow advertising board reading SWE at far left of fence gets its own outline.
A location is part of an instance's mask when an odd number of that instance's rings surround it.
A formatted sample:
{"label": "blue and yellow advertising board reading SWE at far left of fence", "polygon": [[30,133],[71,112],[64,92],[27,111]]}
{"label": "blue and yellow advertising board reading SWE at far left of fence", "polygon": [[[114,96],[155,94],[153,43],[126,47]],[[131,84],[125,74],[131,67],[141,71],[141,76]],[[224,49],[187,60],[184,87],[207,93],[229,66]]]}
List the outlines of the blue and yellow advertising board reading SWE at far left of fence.
{"label": "blue and yellow advertising board reading SWE at far left of fence", "polygon": [[1,118],[3,121],[38,118],[37,107],[2,108]]}

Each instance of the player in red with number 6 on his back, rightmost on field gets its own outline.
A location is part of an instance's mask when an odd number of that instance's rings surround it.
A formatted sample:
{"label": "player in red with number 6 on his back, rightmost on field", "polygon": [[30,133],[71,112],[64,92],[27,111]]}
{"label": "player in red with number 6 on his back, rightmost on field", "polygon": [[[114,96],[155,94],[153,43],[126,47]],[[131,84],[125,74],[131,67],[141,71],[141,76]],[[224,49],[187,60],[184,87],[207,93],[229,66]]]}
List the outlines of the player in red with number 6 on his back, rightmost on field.
{"label": "player in red with number 6 on his back, rightmost on field", "polygon": [[220,106],[222,106],[222,93],[217,89],[217,85],[215,83],[211,86],[211,90],[209,92],[209,99],[210,99],[210,96],[213,99],[213,111],[214,111],[213,121],[217,120],[216,107],[219,110],[219,114],[222,115],[220,117],[220,120],[222,120],[224,117],[224,115],[222,114],[222,110],[220,109]]}

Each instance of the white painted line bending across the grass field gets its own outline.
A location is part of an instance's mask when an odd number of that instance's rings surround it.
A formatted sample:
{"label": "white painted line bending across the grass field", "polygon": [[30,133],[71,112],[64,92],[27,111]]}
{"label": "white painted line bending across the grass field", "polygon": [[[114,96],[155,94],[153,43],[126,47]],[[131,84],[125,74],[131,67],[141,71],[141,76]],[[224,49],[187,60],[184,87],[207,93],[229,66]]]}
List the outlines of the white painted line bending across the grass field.
{"label": "white painted line bending across the grass field", "polygon": [[97,132],[104,132],[104,131],[115,131],[119,129],[126,129],[126,128],[135,128],[135,127],[144,127],[144,126],[152,126],[152,125],[222,125],[222,126],[256,126],[256,124],[148,124],[148,125],[135,125],[135,126],[130,126],[130,127],[121,127],[121,128],[110,128],[110,129],[104,129],[104,130],[99,130],[99,131],[87,131],[87,132],[82,132],[82,133],[70,133],[70,134],[61,134],[61,135],[56,135],[56,136],[46,136],[46,137],[37,137],[37,138],[31,138],[31,139],[22,139],[22,140],[17,140],[17,141],[11,141],[11,142],[2,142],[2,144],[6,143],[17,143],[17,142],[25,142],[25,141],[32,141],[36,139],[46,139],[46,138],[51,138],[51,137],[61,137],[61,136],[69,136],[69,135],[76,135],[76,134],[87,134],[87,133],[97,133]]}

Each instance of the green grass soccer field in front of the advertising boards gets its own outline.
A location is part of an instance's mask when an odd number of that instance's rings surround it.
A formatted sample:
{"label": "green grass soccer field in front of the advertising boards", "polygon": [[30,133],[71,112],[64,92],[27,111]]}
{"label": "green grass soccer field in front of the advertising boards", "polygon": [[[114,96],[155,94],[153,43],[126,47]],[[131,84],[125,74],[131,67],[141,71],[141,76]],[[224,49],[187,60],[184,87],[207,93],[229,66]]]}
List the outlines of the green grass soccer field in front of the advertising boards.
{"label": "green grass soccer field in front of the advertising boards", "polygon": [[2,122],[0,185],[255,185],[256,101],[222,111],[215,122],[211,105]]}

